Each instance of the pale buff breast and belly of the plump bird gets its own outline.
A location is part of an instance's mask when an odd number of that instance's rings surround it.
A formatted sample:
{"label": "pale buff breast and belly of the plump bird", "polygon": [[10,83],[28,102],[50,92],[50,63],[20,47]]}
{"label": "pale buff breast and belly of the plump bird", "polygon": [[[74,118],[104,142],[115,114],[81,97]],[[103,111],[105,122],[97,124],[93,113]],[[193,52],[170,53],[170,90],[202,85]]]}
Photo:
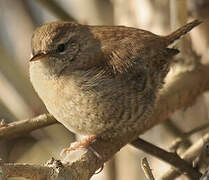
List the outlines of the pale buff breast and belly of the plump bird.
{"label": "pale buff breast and belly of the plump bird", "polygon": [[30,79],[49,113],[80,134],[100,134],[119,126],[130,129],[134,121],[140,120],[146,102],[153,102],[135,87],[140,82],[112,90],[113,83],[100,92],[88,92],[70,76],[49,77],[41,63],[30,65]]}

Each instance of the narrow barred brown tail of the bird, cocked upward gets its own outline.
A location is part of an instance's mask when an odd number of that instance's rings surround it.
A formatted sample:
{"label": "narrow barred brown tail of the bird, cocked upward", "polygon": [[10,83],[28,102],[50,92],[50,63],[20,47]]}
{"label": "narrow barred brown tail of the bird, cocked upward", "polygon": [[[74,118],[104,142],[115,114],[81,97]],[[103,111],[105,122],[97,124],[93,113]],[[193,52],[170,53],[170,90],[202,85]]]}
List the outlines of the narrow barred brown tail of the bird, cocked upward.
{"label": "narrow barred brown tail of the bird, cocked upward", "polygon": [[175,40],[179,39],[181,36],[185,35],[189,31],[191,31],[194,27],[198,26],[201,24],[201,21],[199,20],[194,20],[188,24],[185,24],[184,26],[180,27],[173,33],[169,34],[168,36],[165,36],[165,38],[168,41],[168,44],[172,44]]}

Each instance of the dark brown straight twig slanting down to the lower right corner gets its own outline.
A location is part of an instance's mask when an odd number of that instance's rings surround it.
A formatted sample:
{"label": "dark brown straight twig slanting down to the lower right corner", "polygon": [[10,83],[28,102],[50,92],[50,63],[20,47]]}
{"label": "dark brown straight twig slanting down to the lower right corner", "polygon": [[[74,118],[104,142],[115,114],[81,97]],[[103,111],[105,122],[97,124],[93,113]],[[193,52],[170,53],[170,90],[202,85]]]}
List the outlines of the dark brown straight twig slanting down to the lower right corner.
{"label": "dark brown straight twig slanting down to the lower right corner", "polygon": [[191,164],[182,160],[177,154],[167,152],[162,148],[159,148],[147,141],[144,141],[140,138],[137,138],[135,141],[131,142],[131,144],[146,153],[149,153],[164,162],[169,163],[173,167],[175,167],[178,171],[182,173],[186,173],[191,179],[199,179],[201,177],[201,173],[192,168]]}

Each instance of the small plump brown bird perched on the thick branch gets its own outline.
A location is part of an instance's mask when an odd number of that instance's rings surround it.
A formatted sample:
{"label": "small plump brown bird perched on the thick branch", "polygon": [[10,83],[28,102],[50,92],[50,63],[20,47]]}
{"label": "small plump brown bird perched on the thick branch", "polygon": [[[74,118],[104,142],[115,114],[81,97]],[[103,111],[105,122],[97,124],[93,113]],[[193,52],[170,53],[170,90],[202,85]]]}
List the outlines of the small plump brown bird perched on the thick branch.
{"label": "small plump brown bird perched on the thick branch", "polygon": [[97,136],[137,132],[179,52],[168,45],[199,24],[195,20],[168,36],[125,26],[43,25],[32,37],[31,82],[59,122],[91,135],[82,146]]}

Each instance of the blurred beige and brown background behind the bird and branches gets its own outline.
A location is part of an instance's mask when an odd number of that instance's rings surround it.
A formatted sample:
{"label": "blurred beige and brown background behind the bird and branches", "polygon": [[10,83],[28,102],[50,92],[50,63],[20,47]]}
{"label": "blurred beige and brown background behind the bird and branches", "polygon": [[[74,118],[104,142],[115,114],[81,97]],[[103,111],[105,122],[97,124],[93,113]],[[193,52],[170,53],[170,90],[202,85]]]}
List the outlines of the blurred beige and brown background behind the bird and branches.
{"label": "blurred beige and brown background behind the bird and branches", "polygon": [[[91,25],[126,25],[166,35],[194,18],[204,23],[190,33],[185,44],[176,45],[183,58],[190,58],[177,63],[178,68],[174,67],[169,77],[198,60],[208,61],[208,0],[0,0],[0,119],[9,123],[47,112],[29,81],[30,41],[36,27],[51,21],[73,20]],[[181,134],[208,122],[208,100],[207,94],[200,96],[191,108],[176,112],[169,121],[142,137],[169,150],[171,142]],[[189,145],[205,132],[189,137]],[[63,126],[53,125],[30,135],[1,140],[0,158],[5,162],[43,164],[52,156],[60,159],[61,149],[76,138]],[[127,145],[92,179],[143,180],[143,157],[148,158],[156,179],[170,169],[166,163]]]}

